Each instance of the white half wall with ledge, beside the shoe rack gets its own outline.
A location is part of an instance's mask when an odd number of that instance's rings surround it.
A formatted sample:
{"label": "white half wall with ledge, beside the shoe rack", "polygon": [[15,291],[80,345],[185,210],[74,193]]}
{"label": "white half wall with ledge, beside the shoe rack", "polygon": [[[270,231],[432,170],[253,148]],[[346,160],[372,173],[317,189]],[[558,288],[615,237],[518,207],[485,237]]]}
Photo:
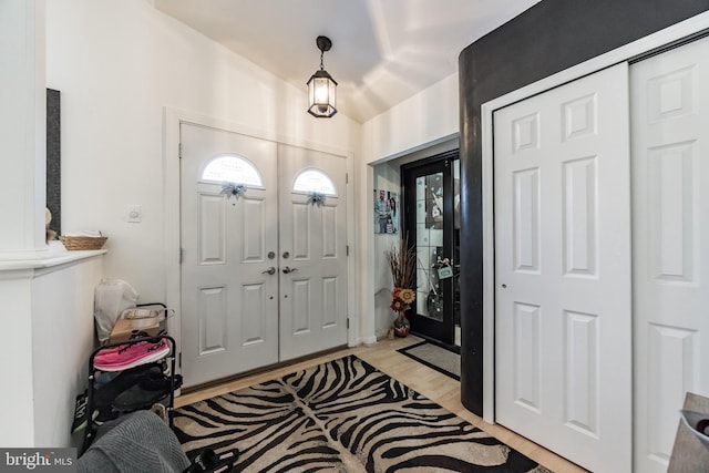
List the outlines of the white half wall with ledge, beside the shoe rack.
{"label": "white half wall with ledge, beside the shoe rack", "polygon": [[100,251],[71,251],[42,261],[0,263],[7,315],[0,445],[72,444],[74,399],[88,385],[94,347],[93,287],[101,280],[102,258]]}

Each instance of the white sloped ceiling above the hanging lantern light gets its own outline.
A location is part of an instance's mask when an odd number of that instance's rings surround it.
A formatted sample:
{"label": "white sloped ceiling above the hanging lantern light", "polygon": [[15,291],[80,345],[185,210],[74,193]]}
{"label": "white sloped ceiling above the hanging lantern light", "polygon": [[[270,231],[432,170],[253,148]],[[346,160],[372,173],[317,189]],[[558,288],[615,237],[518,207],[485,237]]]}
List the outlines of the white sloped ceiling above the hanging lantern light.
{"label": "white sloped ceiling above the hanging lantern light", "polygon": [[[458,71],[466,45],[540,0],[154,0],[155,8],[306,90],[325,69],[366,122]],[[304,111],[305,113],[305,111]]]}

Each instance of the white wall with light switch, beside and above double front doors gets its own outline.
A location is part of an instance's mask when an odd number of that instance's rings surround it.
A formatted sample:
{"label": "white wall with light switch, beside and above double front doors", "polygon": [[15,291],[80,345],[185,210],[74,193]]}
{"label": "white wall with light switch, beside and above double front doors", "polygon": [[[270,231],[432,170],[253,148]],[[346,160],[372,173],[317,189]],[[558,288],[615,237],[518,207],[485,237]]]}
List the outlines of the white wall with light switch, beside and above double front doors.
{"label": "white wall with light switch, beside and above double front doors", "polygon": [[[106,277],[165,300],[163,107],[359,155],[360,125],[306,113],[294,88],[144,0],[47,2],[47,82],[61,91],[62,229],[109,236]],[[141,205],[142,223],[124,220]]]}

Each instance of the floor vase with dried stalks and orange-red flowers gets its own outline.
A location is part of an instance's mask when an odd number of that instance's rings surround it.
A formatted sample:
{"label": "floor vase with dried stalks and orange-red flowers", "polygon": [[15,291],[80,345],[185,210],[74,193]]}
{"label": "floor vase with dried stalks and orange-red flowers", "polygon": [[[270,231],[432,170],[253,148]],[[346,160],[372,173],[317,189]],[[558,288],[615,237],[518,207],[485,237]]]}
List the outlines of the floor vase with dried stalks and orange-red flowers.
{"label": "floor vase with dried stalks and orange-red flowers", "polygon": [[411,323],[407,319],[405,312],[411,308],[411,304],[417,299],[413,289],[415,282],[417,254],[412,246],[409,246],[408,238],[399,240],[387,251],[387,260],[391,270],[391,279],[394,289],[391,291],[391,310],[394,311],[393,330],[397,337],[409,335]]}

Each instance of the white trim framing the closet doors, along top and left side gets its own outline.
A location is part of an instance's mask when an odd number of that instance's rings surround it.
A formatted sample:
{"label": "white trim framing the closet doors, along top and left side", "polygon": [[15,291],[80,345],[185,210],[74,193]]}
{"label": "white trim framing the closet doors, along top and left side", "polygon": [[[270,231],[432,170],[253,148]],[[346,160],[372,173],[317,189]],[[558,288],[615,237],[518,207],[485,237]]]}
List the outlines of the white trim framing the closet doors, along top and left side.
{"label": "white trim framing the closet doors, along top and left side", "polygon": [[482,223],[483,223],[483,420],[495,422],[495,240],[493,188],[493,113],[520,102],[593,74],[602,69],[628,62],[650,51],[709,30],[709,12],[697,14],[637,41],[600,54],[524,88],[481,105],[482,144]]}

